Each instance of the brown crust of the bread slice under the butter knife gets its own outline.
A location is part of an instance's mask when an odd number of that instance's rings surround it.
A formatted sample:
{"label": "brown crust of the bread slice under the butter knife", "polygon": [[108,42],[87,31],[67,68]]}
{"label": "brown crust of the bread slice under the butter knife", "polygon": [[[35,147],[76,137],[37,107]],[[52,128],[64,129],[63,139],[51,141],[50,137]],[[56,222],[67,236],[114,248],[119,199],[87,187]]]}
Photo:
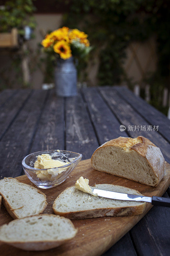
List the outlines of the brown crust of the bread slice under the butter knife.
{"label": "brown crust of the bread slice under the butter knife", "polygon": [[[72,186],[72,187],[74,187],[74,186]],[[66,188],[65,190],[67,190],[67,189],[69,189],[69,188]],[[65,190],[63,190],[63,192]],[[137,194],[140,194],[137,190],[135,190],[135,191],[137,192]],[[58,195],[57,198],[59,198],[63,194],[63,192],[60,195]],[[140,195],[142,195],[142,194],[140,194]],[[80,219],[106,217],[106,216],[113,216],[113,217],[134,216],[134,215],[142,214],[146,207],[146,203],[143,203],[141,205],[127,206],[127,207],[98,208],[98,209],[76,211],[76,212],[58,212],[55,209],[55,207],[56,207],[55,203],[57,201],[57,198],[55,199],[55,201],[53,203],[53,211],[55,212],[55,214],[63,216],[65,218],[69,218],[71,220],[80,220]]]}

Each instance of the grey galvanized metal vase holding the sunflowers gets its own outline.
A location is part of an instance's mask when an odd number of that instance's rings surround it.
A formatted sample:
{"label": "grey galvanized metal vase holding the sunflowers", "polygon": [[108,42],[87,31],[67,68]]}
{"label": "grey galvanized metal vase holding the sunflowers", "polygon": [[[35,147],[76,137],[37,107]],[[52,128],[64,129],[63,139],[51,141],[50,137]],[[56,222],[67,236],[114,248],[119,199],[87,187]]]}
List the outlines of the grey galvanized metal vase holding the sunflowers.
{"label": "grey galvanized metal vase holding the sunflowers", "polygon": [[58,59],[55,68],[55,90],[58,96],[70,97],[77,95],[77,69],[74,58]]}

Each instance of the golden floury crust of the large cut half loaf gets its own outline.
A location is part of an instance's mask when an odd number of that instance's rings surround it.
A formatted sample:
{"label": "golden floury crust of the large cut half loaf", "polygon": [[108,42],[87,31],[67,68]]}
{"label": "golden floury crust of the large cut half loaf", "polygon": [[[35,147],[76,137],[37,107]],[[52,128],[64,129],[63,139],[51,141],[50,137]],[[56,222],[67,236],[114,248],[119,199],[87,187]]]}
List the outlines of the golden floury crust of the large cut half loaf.
{"label": "golden floury crust of the large cut half loaf", "polygon": [[[95,166],[93,164],[94,163],[93,159],[101,147],[105,148],[108,146],[113,146],[113,147],[123,148],[124,145],[129,143],[129,139],[131,138],[118,137],[116,139],[105,142],[103,145],[97,148],[91,157],[92,167],[95,169]],[[143,156],[147,160],[148,165],[152,168],[153,173],[155,174],[156,184],[154,186],[157,186],[159,182],[162,180],[163,176],[165,175],[165,171],[166,171],[165,159],[160,149],[155,144],[153,144],[150,140],[148,140],[143,136],[138,136],[136,139],[139,141],[139,143],[129,147],[129,150],[135,150],[137,153],[139,153],[141,156]],[[107,170],[102,172],[108,173]],[[109,174],[111,173],[109,172]],[[123,176],[120,176],[120,177],[123,177]],[[134,180],[134,181],[137,181],[137,180]]]}

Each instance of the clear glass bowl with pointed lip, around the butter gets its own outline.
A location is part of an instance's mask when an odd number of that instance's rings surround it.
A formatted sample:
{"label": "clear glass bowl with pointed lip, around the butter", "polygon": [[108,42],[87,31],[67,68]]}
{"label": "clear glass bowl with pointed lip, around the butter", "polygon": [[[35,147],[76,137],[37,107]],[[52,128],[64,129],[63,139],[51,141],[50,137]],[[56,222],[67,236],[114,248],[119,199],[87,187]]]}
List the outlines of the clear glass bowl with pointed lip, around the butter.
{"label": "clear glass bowl with pointed lip, around the butter", "polygon": [[[65,162],[65,165],[55,168],[48,169],[36,169],[34,168],[34,163],[37,160],[38,155],[49,154],[52,159],[60,160]],[[31,182],[33,182],[39,188],[52,188],[55,187],[67,178],[67,176],[74,170],[74,168],[81,161],[82,155],[66,151],[66,150],[44,150],[32,153],[26,156],[22,160],[22,166],[26,176]],[[66,162],[70,162],[67,164]],[[48,174],[48,172],[52,171],[54,174]],[[38,174],[40,174],[41,178],[38,178]]]}

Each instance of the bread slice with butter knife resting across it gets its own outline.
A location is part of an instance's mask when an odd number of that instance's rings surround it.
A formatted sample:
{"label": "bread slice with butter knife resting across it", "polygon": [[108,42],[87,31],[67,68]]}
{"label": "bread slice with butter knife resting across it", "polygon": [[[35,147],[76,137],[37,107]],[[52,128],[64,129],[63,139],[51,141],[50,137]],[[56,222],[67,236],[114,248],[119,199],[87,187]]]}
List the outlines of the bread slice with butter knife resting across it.
{"label": "bread slice with butter knife resting across it", "polygon": [[[98,184],[95,187],[109,191],[141,195],[134,189],[112,185]],[[103,216],[132,216],[139,215],[144,211],[146,203],[135,201],[122,201],[92,196],[75,188],[66,188],[54,201],[55,214],[72,220],[96,218]]]}

